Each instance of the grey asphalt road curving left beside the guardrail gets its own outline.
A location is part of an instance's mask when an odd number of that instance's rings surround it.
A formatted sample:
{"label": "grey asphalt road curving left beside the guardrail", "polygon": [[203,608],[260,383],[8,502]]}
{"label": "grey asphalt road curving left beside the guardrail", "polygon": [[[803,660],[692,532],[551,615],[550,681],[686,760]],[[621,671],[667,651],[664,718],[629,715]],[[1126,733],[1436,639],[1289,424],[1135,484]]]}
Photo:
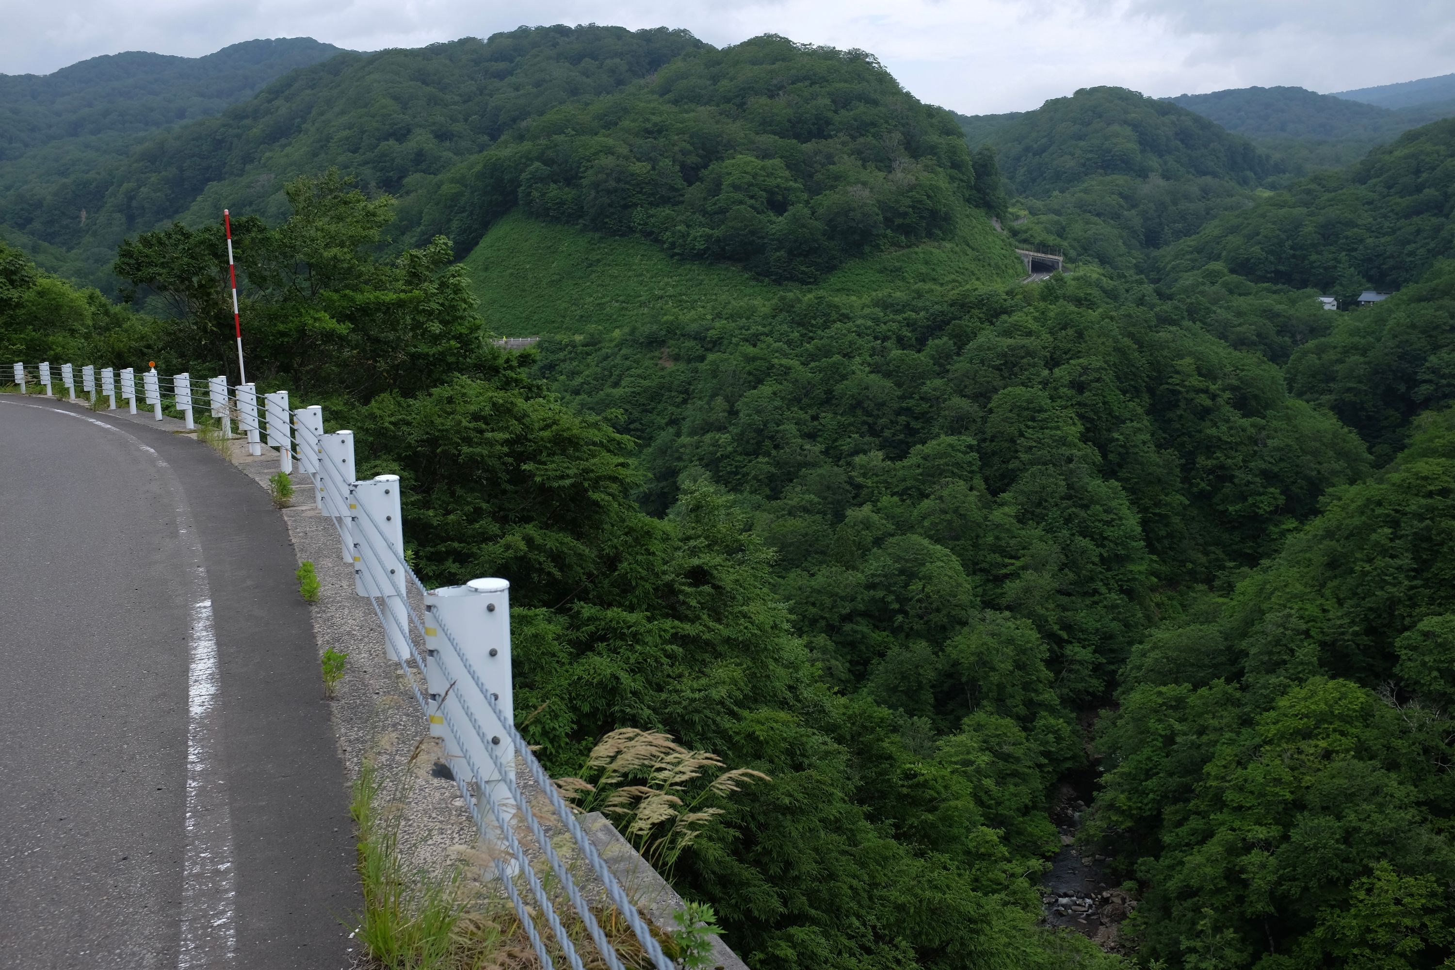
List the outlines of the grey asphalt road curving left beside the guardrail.
{"label": "grey asphalt road curving left beside the guardrail", "polygon": [[294,569],[263,490],[205,445],[0,398],[0,967],[351,963],[348,794]]}

